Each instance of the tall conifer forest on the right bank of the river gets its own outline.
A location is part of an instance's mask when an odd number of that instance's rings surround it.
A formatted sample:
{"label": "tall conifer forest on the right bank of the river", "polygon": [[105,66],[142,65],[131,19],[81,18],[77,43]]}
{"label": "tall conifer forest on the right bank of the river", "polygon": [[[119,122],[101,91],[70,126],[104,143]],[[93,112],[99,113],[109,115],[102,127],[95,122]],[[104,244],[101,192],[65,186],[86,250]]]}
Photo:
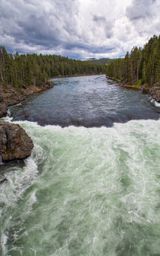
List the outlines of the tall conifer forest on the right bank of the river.
{"label": "tall conifer forest on the right bank of the river", "polygon": [[106,74],[126,85],[152,85],[160,82],[160,36],[155,35],[143,48],[133,47],[124,59],[107,64]]}

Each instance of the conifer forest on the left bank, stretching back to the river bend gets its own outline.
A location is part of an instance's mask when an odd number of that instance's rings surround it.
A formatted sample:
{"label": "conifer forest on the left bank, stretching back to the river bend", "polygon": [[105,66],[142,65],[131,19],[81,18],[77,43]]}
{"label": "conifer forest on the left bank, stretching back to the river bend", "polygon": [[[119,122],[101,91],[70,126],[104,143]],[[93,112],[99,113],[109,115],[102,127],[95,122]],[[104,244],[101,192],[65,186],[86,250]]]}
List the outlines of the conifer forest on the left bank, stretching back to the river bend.
{"label": "conifer forest on the left bank, stretching back to the river bend", "polygon": [[14,88],[22,86],[40,86],[60,75],[89,75],[105,73],[104,65],[95,65],[68,57],[27,54],[19,55],[7,53],[4,46],[0,46],[0,84],[12,85]]}

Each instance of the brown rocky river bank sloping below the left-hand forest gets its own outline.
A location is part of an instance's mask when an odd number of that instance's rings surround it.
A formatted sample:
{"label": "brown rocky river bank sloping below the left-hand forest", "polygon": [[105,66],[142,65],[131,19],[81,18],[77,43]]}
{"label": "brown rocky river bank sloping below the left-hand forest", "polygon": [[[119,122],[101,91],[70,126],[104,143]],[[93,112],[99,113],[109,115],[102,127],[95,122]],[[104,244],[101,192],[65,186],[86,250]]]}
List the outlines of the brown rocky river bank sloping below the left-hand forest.
{"label": "brown rocky river bank sloping below the left-hand forest", "polygon": [[53,88],[53,82],[46,82],[40,87],[34,85],[26,87],[23,85],[21,88],[14,88],[12,85],[0,85],[0,118],[7,115],[8,106],[24,101],[30,94],[50,88]]}

